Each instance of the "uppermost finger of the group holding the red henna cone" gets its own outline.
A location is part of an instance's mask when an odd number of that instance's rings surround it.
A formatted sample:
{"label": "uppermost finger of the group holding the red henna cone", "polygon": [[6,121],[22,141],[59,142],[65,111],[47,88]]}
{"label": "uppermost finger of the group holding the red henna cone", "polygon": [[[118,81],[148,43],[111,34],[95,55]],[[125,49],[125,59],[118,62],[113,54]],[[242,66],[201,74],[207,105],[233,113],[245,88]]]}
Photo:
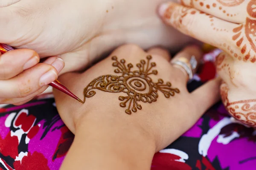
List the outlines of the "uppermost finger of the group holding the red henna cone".
{"label": "uppermost finger of the group holding the red henna cone", "polygon": [[17,49],[0,56],[0,79],[10,79],[39,62],[38,54],[29,49]]}

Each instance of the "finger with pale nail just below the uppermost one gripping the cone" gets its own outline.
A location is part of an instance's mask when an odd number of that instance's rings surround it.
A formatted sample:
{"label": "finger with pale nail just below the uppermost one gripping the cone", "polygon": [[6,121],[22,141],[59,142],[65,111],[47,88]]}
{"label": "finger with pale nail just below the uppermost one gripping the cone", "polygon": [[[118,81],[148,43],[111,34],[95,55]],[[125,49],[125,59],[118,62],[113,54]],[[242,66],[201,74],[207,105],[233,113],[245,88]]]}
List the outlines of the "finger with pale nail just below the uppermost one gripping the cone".
{"label": "finger with pale nail just below the uppermost one gripping the cone", "polygon": [[0,98],[22,98],[38,91],[58,77],[64,61],[58,57],[51,65],[39,63],[16,77],[0,80]]}

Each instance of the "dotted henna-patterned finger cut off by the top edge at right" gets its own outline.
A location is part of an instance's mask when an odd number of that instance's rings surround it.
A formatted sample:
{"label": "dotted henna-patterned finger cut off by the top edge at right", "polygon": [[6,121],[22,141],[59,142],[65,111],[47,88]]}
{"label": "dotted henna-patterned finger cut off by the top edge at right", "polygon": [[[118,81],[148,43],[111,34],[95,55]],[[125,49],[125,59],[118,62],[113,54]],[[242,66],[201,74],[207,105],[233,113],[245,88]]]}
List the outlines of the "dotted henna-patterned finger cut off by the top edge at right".
{"label": "dotted henna-patterned finger cut off by the top edge at right", "polygon": [[252,9],[248,11],[248,3],[256,2],[254,0],[182,0],[182,5],[196,8],[232,23],[243,23],[248,15],[247,12],[253,12]]}

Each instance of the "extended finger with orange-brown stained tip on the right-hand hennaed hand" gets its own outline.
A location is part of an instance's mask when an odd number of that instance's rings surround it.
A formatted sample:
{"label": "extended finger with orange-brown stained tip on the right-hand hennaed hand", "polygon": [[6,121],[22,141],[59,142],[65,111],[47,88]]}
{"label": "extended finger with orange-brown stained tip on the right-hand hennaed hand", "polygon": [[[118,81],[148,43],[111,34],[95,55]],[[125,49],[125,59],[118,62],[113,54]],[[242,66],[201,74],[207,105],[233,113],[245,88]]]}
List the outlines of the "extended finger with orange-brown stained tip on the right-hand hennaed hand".
{"label": "extended finger with orange-brown stained tip on the right-hand hennaed hand", "polygon": [[218,48],[233,36],[233,28],[238,26],[175,3],[163,4],[159,13],[166,24]]}

